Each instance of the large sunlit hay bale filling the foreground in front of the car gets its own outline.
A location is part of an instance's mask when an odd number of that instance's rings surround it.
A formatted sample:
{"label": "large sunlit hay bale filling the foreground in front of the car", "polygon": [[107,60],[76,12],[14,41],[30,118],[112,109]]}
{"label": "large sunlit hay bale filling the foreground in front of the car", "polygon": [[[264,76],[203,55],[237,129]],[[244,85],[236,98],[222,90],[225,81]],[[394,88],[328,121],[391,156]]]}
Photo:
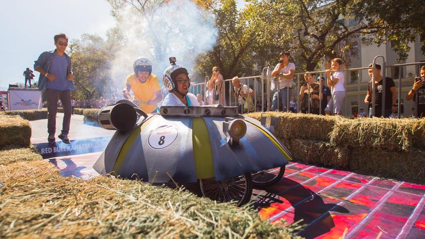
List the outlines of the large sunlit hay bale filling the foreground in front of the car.
{"label": "large sunlit hay bale filling the foreground in front of the car", "polygon": [[45,161],[0,166],[5,238],[299,238],[248,206],[131,180],[64,178]]}

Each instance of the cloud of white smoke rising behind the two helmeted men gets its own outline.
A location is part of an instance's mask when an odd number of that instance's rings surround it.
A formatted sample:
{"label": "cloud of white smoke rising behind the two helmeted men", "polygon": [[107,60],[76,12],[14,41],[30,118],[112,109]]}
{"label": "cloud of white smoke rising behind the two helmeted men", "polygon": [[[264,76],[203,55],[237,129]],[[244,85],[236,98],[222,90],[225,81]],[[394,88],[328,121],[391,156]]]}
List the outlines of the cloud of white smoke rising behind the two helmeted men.
{"label": "cloud of white smoke rising behind the two helmeted men", "polygon": [[153,74],[162,86],[162,74],[170,65],[170,56],[175,56],[177,64],[193,73],[196,56],[211,50],[215,43],[213,20],[192,1],[171,0],[147,16],[149,20],[133,7],[119,13],[117,26],[126,44],[116,52],[111,67],[111,76],[119,88],[133,72],[138,56],[152,61]]}

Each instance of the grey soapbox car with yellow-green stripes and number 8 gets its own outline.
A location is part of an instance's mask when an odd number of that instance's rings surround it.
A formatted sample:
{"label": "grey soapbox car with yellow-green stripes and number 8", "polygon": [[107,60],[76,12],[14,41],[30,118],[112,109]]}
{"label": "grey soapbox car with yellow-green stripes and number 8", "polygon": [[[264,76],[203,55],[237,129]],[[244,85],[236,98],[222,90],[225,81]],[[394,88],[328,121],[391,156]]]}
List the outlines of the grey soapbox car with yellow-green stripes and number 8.
{"label": "grey soapbox car with yellow-green stripes and number 8", "polygon": [[97,121],[116,130],[94,165],[100,174],[196,183],[201,196],[219,202],[248,202],[253,185],[276,183],[292,159],[269,129],[237,107],[161,107],[146,114],[120,100],[99,110]]}

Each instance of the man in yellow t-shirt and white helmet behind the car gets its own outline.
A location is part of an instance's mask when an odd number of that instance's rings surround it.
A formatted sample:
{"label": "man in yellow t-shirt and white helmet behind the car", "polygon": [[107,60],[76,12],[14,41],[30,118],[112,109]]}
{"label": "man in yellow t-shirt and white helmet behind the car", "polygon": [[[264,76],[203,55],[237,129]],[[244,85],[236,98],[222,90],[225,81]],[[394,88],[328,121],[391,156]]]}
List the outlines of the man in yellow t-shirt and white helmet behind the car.
{"label": "man in yellow t-shirt and white helmet behind the car", "polygon": [[[134,73],[125,79],[122,94],[124,98],[133,101],[146,113],[156,111],[158,103],[162,100],[161,88],[158,77],[152,74],[152,63],[146,57],[138,57],[133,65]],[[133,89],[134,99],[130,94]]]}

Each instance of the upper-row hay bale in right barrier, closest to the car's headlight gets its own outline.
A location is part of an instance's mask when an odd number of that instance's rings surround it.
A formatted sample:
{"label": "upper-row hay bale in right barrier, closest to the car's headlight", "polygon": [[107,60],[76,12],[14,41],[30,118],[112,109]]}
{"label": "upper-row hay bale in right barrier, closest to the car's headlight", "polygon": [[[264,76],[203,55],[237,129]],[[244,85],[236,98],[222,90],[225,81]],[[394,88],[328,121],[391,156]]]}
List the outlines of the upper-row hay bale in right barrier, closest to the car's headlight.
{"label": "upper-row hay bale in right barrier, closest to the car's headlight", "polygon": [[[274,135],[281,141],[290,139],[309,139],[329,141],[329,133],[335,125],[335,120],[343,118],[315,114],[300,114],[286,112],[266,112],[271,116],[278,116]],[[260,120],[261,112],[245,114]]]}

